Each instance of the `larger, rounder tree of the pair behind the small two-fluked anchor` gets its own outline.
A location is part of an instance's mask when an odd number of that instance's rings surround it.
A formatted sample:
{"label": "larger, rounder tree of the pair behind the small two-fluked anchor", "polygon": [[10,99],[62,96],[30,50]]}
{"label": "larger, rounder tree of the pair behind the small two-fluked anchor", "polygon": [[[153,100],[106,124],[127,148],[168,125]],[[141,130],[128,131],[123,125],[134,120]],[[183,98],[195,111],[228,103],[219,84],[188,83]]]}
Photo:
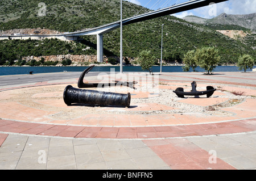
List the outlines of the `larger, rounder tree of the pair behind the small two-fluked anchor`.
{"label": "larger, rounder tree of the pair behind the small two-fluked anchor", "polygon": [[220,62],[220,56],[218,56],[218,50],[214,47],[203,47],[196,50],[195,61],[200,68],[205,69],[207,74],[210,74]]}

